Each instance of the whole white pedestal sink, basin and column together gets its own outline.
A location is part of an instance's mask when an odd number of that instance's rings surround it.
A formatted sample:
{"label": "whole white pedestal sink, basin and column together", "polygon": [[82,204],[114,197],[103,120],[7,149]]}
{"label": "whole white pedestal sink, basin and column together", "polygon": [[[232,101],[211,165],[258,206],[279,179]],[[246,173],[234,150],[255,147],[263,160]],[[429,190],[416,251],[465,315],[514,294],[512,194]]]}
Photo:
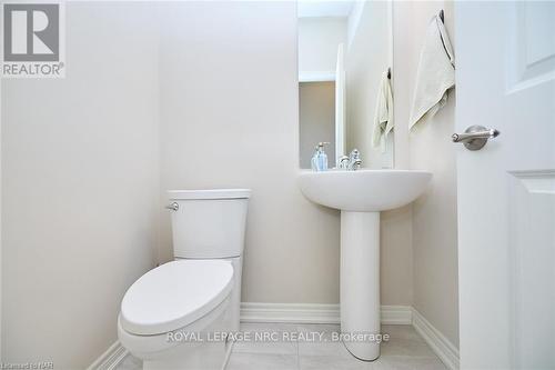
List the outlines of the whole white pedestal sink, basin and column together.
{"label": "whole white pedestal sink, basin and column together", "polygon": [[408,170],[302,172],[311,201],[341,210],[341,332],[361,360],[380,356],[380,211],[408,204],[432,173]]}

